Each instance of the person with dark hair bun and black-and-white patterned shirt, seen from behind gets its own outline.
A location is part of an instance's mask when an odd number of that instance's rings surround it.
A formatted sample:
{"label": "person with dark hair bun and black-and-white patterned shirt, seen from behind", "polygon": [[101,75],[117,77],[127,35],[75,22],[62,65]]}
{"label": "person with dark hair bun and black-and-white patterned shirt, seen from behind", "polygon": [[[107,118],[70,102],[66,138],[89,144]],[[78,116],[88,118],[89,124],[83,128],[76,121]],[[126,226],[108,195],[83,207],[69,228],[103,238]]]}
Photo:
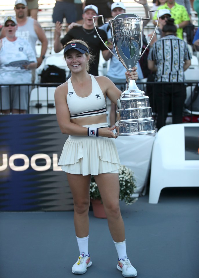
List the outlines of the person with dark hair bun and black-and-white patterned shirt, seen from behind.
{"label": "person with dark hair bun and black-and-white patterned shirt, seen from behind", "polygon": [[176,37],[174,19],[168,18],[162,31],[164,37],[153,44],[148,55],[148,68],[156,72],[155,81],[158,82],[155,84],[158,129],[165,125],[171,110],[173,123],[182,123],[186,86],[176,82],[184,82],[184,71],[191,65],[187,43]]}

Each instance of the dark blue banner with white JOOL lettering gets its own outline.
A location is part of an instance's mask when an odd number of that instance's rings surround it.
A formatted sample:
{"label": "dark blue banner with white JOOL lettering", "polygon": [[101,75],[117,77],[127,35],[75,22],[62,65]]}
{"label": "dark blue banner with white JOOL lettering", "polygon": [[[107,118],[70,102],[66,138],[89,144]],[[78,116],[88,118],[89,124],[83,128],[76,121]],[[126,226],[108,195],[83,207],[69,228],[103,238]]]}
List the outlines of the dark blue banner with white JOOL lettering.
{"label": "dark blue banner with white JOOL lettering", "polygon": [[56,115],[0,115],[0,210],[73,210]]}

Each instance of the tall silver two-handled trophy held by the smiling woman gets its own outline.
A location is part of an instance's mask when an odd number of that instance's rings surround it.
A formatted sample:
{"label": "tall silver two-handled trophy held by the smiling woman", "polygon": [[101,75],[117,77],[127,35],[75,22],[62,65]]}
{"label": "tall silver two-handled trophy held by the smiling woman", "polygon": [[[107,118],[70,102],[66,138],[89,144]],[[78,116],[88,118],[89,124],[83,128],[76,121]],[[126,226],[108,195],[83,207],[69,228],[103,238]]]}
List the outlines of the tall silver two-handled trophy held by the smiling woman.
{"label": "tall silver two-handled trophy held by the smiling woman", "polygon": [[[106,46],[97,32],[95,17],[102,17],[103,24],[109,23],[113,46],[118,57]],[[104,22],[102,15],[95,17],[93,17],[93,23],[101,41],[115,58],[122,63],[126,70],[131,72],[153,39],[158,22],[151,40],[141,54],[143,45],[143,21],[149,20],[150,18],[143,19],[136,14],[119,14],[114,19]],[[155,122],[152,118],[152,110],[149,105],[149,97],[138,89],[135,80],[129,79],[126,90],[117,99],[115,126],[115,135],[137,135],[156,132]]]}

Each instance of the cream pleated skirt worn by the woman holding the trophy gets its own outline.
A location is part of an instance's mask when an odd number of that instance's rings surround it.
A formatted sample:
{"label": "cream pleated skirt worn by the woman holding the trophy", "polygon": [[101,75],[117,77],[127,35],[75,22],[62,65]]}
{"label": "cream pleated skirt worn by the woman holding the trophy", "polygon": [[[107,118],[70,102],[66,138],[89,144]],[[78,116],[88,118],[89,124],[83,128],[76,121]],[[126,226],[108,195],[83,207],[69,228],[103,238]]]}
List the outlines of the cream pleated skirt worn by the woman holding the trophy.
{"label": "cream pleated skirt worn by the woman holding the trophy", "polygon": [[[84,127],[108,127],[108,123]],[[115,139],[107,137],[69,136],[64,144],[58,165],[67,173],[98,175],[118,170],[120,159]]]}

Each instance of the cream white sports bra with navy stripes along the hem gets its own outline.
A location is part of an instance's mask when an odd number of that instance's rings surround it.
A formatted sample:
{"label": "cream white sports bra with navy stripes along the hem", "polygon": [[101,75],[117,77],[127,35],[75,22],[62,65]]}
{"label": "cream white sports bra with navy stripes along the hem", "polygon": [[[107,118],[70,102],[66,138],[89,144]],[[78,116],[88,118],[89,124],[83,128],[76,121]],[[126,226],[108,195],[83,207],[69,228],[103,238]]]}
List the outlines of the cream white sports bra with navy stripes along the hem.
{"label": "cream white sports bra with navy stripes along the hem", "polygon": [[70,119],[90,117],[106,114],[106,101],[99,84],[93,75],[92,92],[88,97],[76,95],[70,78],[68,79],[67,104],[70,111]]}

